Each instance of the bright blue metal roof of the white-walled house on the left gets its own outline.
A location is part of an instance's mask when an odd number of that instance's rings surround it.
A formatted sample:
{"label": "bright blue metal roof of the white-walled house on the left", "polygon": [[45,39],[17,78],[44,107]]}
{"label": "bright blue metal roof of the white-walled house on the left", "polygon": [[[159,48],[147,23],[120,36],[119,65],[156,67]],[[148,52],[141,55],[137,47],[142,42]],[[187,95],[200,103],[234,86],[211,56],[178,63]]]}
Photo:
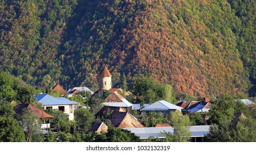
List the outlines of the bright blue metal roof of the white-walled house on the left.
{"label": "bright blue metal roof of the white-walled house on the left", "polygon": [[42,105],[70,105],[70,104],[79,104],[77,102],[72,102],[69,99],[65,97],[59,97],[55,98],[53,96],[50,96],[48,94],[39,94],[35,96],[37,98],[38,103],[41,103]]}

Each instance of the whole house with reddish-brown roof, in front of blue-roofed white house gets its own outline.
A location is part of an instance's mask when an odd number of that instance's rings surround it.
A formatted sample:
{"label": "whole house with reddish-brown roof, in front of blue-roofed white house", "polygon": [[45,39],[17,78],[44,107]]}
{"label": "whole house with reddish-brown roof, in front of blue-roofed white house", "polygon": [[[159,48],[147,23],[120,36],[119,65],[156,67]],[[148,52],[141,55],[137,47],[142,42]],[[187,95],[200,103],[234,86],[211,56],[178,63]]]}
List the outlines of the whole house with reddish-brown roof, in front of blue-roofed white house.
{"label": "whole house with reddish-brown roof, in front of blue-roofed white house", "polygon": [[31,104],[16,105],[16,107],[14,108],[14,111],[15,111],[14,117],[18,117],[19,115],[21,115],[22,111],[24,111],[25,108],[31,109],[32,113],[35,114],[38,117],[38,119],[41,120],[41,122],[42,122],[41,129],[42,130],[47,130],[48,128],[50,128],[50,118],[52,118],[53,116],[45,113],[43,110],[41,110]]}

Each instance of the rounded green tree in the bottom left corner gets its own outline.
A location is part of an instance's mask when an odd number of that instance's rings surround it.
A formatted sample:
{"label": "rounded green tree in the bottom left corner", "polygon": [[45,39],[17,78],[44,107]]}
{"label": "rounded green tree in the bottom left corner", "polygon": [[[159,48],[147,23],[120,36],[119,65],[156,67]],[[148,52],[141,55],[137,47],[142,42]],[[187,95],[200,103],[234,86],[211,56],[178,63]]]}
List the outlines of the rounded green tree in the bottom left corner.
{"label": "rounded green tree in the bottom left corner", "polygon": [[0,116],[0,142],[26,142],[22,127],[12,116]]}

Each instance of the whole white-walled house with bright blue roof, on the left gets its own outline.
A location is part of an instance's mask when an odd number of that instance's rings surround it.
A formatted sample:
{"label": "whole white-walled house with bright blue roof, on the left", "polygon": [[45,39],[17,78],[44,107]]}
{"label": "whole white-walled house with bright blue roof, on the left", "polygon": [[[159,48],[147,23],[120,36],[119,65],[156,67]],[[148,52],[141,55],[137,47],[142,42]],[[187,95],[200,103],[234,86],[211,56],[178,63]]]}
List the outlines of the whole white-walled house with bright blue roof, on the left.
{"label": "whole white-walled house with bright blue roof, on the left", "polygon": [[69,120],[74,119],[74,105],[78,105],[77,102],[72,102],[67,98],[59,97],[55,98],[48,94],[39,94],[36,96],[38,103],[41,103],[44,109],[58,109],[69,114]]}

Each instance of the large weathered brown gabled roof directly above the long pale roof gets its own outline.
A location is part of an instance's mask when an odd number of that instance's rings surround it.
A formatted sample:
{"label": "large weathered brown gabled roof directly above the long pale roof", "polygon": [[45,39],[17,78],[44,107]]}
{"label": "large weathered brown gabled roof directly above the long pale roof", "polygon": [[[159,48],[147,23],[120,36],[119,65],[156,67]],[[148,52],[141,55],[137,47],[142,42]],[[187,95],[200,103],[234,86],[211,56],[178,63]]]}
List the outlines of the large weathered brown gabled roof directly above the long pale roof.
{"label": "large weathered brown gabled roof directly above the long pale roof", "polygon": [[145,127],[134,116],[126,112],[113,111],[107,119],[111,120],[111,123],[115,127],[119,128],[138,128]]}

